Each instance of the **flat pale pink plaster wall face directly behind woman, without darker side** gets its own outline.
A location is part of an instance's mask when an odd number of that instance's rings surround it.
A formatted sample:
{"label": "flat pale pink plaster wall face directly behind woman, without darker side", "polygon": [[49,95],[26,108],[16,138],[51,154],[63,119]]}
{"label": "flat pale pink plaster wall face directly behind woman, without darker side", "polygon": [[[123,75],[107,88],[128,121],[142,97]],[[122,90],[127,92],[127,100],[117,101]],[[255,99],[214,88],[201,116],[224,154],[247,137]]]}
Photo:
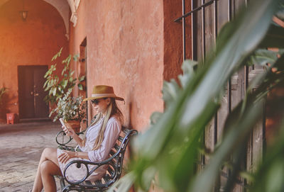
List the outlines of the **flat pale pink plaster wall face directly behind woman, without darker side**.
{"label": "flat pale pink plaster wall face directly behind woman, without darker side", "polygon": [[143,130],[163,111],[163,1],[87,0],[85,11],[88,94],[114,86],[124,124]]}

